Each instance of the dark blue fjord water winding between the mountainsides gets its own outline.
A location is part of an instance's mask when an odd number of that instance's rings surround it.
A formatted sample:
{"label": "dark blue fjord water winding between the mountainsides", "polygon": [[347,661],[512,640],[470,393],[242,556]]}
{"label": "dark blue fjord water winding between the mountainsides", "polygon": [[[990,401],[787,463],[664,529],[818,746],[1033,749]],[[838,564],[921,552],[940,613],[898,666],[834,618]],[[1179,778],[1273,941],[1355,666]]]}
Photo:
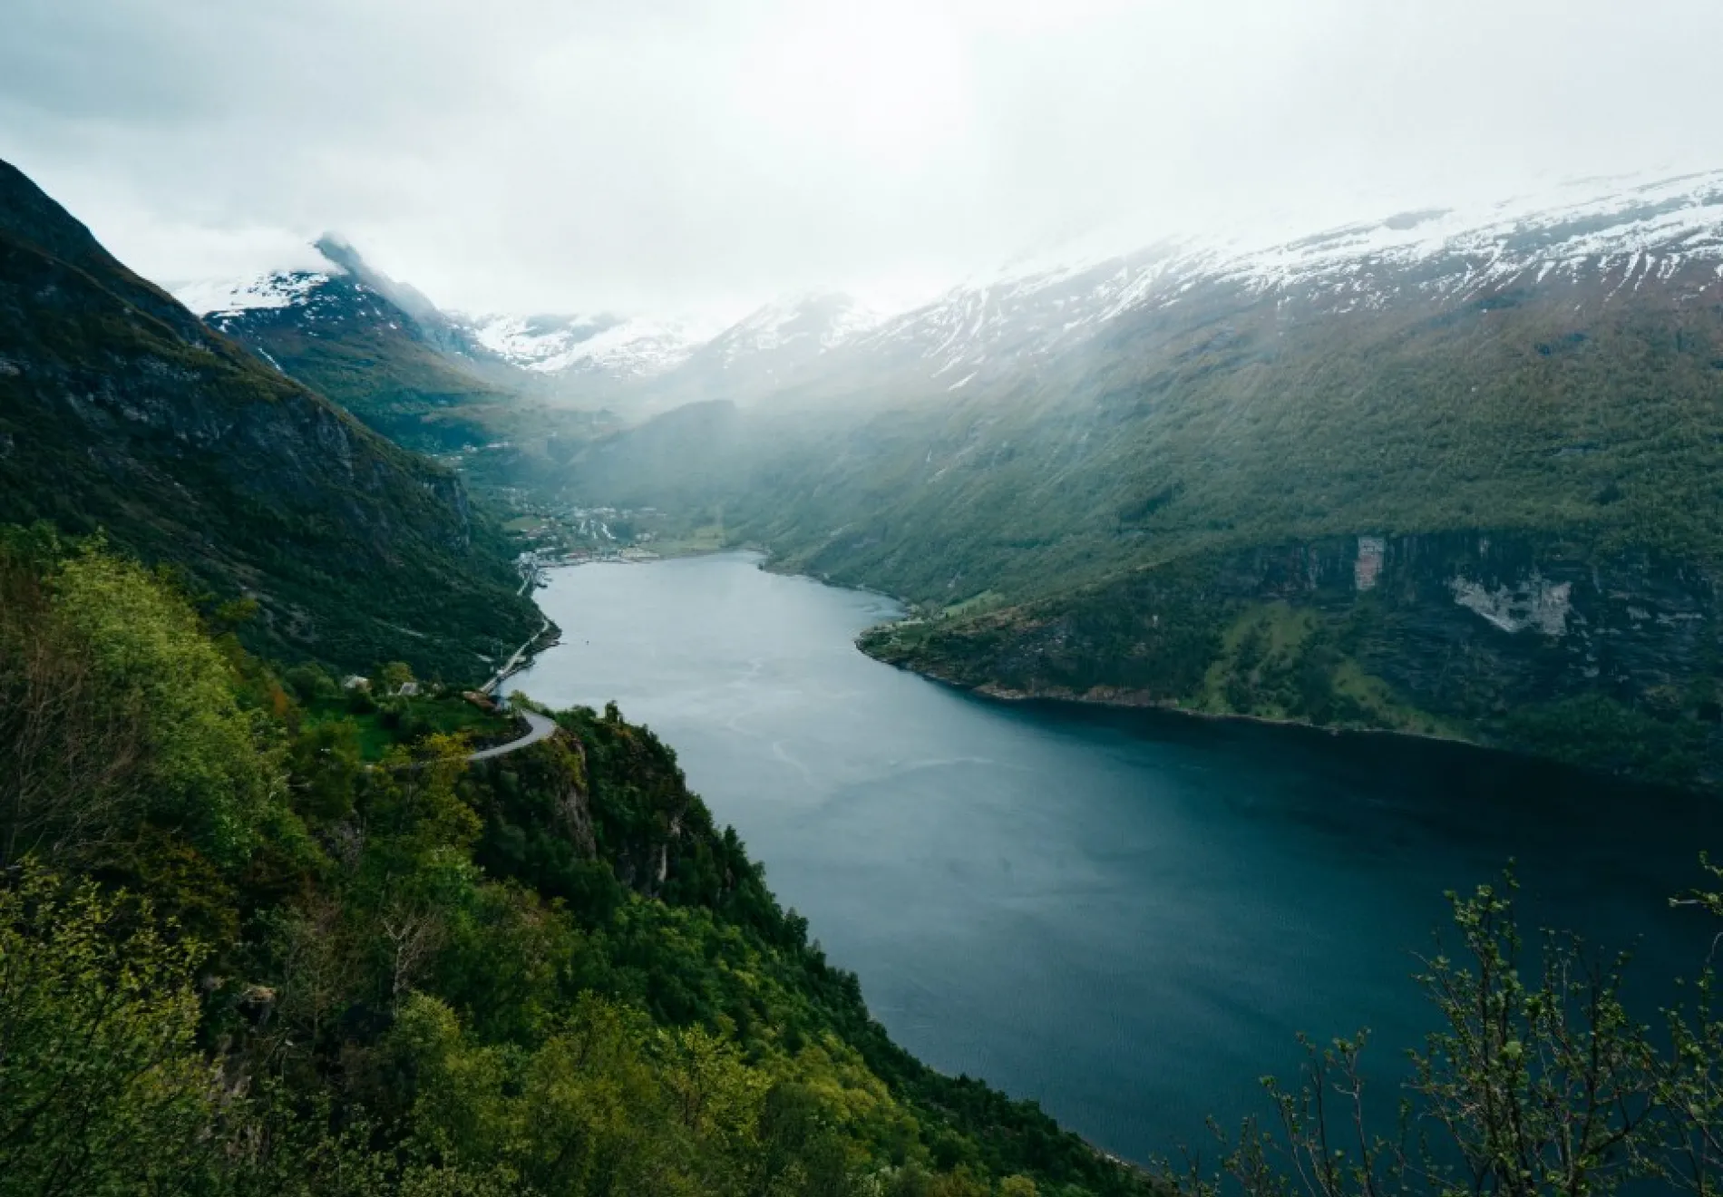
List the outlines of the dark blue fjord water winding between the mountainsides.
{"label": "dark blue fjord water winding between the mountainsides", "polygon": [[872,661],[894,613],[725,555],[589,565],[515,685],[670,742],[779,897],[944,1071],[1034,1097],[1130,1157],[1261,1111],[1296,1033],[1373,1032],[1384,1078],[1428,1028],[1408,980],[1442,892],[1518,859],[1530,921],[1692,973],[1671,913],[1723,846],[1699,797],[1372,735],[970,698]]}

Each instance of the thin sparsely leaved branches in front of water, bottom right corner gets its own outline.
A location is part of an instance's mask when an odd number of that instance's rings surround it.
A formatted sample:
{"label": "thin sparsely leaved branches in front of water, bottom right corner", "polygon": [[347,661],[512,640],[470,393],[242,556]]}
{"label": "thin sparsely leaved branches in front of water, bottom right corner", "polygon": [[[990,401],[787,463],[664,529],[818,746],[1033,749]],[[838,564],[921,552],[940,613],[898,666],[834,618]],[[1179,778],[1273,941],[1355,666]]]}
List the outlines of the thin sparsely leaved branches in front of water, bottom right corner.
{"label": "thin sparsely leaved branches in front of water, bottom right corner", "polygon": [[[1723,1023],[1711,963],[1695,1004],[1668,1011],[1670,1035],[1659,1042],[1623,1008],[1625,956],[1597,961],[1577,940],[1546,933],[1540,959],[1527,959],[1515,889],[1509,875],[1501,887],[1449,896],[1459,956],[1437,954],[1418,977],[1442,1026],[1409,1052],[1394,1135],[1372,1130],[1359,1035],[1322,1051],[1308,1045],[1297,1088],[1265,1082],[1277,1130],[1249,1119],[1215,1175],[1163,1166],[1163,1180],[1192,1195],[1227,1188],[1261,1197],[1580,1197],[1647,1181],[1664,1192],[1716,1192]],[[1723,915],[1718,894],[1680,904]]]}

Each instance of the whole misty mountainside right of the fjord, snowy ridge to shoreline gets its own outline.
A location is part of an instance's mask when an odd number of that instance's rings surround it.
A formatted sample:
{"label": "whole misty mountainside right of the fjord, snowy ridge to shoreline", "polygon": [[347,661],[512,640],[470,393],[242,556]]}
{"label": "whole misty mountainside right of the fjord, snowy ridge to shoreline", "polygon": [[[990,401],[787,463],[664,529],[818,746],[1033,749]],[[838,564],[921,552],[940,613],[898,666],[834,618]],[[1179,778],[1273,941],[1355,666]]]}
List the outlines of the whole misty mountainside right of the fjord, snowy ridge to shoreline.
{"label": "whole misty mountainside right of the fjord, snowy ridge to shoreline", "polygon": [[1723,777],[1723,176],[960,289],[679,422],[570,477],[915,599],[889,660]]}

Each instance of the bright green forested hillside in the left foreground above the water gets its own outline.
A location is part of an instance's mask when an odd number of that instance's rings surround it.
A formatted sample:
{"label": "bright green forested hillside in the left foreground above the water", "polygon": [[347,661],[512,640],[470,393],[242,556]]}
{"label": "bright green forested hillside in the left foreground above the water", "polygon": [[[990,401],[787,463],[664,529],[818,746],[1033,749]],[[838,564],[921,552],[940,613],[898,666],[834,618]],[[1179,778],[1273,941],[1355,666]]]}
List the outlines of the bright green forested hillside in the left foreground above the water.
{"label": "bright green forested hillside in the left foreground above the water", "polygon": [[0,1192],[1148,1190],[894,1047],[615,708],[367,763],[393,704],[7,532]]}

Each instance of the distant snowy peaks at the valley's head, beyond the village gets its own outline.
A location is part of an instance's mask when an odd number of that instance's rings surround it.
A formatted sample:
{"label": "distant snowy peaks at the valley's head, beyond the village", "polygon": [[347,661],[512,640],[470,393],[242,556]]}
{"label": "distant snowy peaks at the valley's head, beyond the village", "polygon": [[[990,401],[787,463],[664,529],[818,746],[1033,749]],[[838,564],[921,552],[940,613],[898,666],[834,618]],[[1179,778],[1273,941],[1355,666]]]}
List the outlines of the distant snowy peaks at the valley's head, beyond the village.
{"label": "distant snowy peaks at the valley's head, beyond the village", "polygon": [[[439,310],[336,238],[317,250],[322,269],[188,284],[179,296],[210,327],[422,450],[507,439],[543,456],[551,436],[586,437],[684,403],[753,401],[817,372],[879,322],[832,293],[768,303],[734,324],[470,317]],[[541,467],[522,462],[527,474]]]}

